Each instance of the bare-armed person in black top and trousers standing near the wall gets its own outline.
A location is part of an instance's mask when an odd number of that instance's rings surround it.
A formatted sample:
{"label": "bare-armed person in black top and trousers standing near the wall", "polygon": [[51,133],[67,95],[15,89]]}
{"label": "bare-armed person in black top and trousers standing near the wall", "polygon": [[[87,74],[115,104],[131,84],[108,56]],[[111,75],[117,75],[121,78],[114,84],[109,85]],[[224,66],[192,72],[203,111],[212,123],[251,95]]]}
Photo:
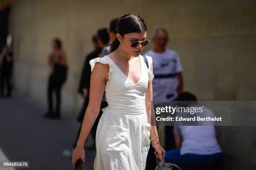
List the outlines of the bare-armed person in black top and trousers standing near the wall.
{"label": "bare-armed person in black top and trousers standing near the wall", "polygon": [[[61,118],[61,87],[67,79],[67,57],[61,46],[61,40],[55,38],[52,43],[53,52],[49,55],[51,74],[48,81],[48,111],[44,115],[45,118]],[[53,112],[53,92],[56,93],[55,112]]]}

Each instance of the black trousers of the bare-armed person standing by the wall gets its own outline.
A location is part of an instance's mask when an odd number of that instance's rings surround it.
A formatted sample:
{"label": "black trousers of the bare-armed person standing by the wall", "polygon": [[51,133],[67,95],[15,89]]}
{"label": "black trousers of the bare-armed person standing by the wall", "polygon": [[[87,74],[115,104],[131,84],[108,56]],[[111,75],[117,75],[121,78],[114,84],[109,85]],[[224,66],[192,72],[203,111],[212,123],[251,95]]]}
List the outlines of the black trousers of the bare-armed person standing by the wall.
{"label": "black trousers of the bare-armed person standing by the wall", "polygon": [[55,114],[60,114],[60,105],[61,105],[61,87],[63,85],[64,81],[59,80],[54,75],[50,75],[49,81],[48,81],[48,113],[54,114],[53,112],[53,93],[56,95],[56,108],[55,108]]}

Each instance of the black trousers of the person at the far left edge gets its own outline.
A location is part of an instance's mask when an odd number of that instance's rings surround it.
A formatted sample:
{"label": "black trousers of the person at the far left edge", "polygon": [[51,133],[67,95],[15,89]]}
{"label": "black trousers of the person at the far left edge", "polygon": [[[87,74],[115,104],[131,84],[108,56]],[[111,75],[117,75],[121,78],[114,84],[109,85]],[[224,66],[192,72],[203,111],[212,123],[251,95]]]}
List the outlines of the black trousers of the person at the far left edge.
{"label": "black trousers of the person at the far left edge", "polygon": [[5,94],[5,86],[7,87],[7,96],[11,96],[12,94],[12,85],[10,82],[11,75],[10,74],[5,74],[1,73],[0,74],[0,95],[3,97]]}

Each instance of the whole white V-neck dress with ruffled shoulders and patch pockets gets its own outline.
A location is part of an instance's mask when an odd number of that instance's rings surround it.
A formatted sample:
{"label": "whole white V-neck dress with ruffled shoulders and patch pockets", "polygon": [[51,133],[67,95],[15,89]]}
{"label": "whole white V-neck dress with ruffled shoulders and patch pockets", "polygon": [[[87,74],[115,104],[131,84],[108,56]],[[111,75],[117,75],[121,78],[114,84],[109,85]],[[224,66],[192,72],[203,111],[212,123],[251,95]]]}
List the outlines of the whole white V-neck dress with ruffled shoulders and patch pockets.
{"label": "whole white V-neck dress with ruffled shoulders and patch pockets", "polygon": [[[149,68],[152,58],[148,59]],[[94,170],[145,170],[150,146],[145,96],[148,81],[154,75],[140,55],[141,79],[133,83],[108,57],[90,60],[91,70],[96,62],[108,64],[108,82],[105,97],[108,106],[103,108],[96,132]]]}

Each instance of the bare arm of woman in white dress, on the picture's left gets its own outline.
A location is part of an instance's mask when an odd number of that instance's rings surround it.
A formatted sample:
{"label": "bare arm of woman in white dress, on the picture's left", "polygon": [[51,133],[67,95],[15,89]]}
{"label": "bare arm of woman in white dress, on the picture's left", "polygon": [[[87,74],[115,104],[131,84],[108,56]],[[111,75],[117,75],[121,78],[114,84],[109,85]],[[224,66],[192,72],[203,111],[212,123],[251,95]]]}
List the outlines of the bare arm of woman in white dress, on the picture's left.
{"label": "bare arm of woman in white dress, on the picture's left", "polygon": [[76,161],[81,158],[83,165],[85,164],[84,158],[84,143],[90,133],[92,125],[94,124],[100,112],[100,105],[105,90],[106,78],[108,77],[109,66],[96,62],[92,70],[90,81],[90,97],[89,104],[85,111],[82,129],[77,141],[77,147],[73,153],[72,164],[75,165]]}

